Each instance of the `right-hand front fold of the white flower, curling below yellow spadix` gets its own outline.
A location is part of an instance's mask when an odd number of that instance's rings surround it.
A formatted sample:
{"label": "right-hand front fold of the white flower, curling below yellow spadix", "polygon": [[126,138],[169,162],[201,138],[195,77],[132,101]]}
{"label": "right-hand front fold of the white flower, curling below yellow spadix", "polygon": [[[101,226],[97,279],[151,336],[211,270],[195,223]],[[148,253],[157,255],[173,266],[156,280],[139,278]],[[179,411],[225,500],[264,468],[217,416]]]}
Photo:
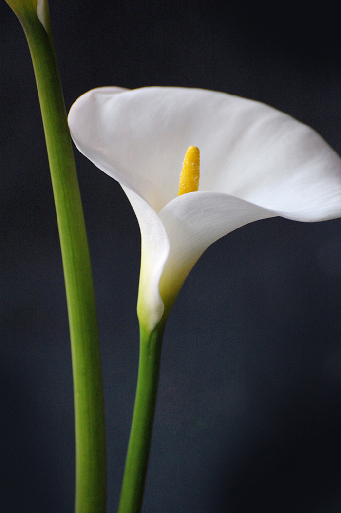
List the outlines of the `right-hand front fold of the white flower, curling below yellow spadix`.
{"label": "right-hand front fold of the white flower, curling below yellow spadix", "polygon": [[229,194],[203,191],[175,198],[158,215],[171,241],[159,284],[170,310],[187,275],[211,244],[237,228],[277,213]]}

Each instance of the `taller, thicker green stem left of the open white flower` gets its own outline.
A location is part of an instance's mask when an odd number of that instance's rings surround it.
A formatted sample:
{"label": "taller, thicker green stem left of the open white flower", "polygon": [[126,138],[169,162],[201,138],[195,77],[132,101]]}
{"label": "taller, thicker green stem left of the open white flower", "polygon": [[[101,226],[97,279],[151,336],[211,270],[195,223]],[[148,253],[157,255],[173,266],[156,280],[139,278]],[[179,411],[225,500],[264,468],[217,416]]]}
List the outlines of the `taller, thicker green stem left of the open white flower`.
{"label": "taller, thicker green stem left of the open white flower", "polygon": [[62,249],[74,386],[75,511],[104,513],[106,452],[102,367],[81,195],[49,19],[45,20],[44,27],[29,2],[17,5],[19,8],[24,5],[23,15],[19,13],[18,17],[34,67]]}

